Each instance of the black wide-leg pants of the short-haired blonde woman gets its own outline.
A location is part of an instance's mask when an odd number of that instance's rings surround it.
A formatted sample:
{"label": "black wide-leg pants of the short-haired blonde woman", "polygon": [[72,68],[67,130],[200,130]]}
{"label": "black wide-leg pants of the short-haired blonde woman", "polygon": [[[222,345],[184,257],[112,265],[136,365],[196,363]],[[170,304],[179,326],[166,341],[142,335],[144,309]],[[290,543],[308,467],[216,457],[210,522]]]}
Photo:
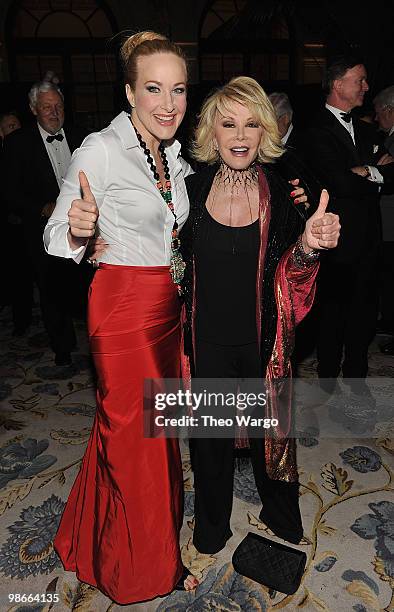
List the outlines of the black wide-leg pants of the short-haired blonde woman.
{"label": "black wide-leg pants of the short-haired blonde woman", "polygon": [[[233,378],[233,388],[226,391],[235,392],[239,379],[261,377],[257,343],[224,346],[197,340],[196,377]],[[260,518],[277,536],[297,544],[303,535],[299,485],[267,476],[263,437],[250,437],[249,445],[256,487],[263,504]],[[195,488],[193,543],[201,553],[219,552],[232,536],[234,454],[232,438],[191,440]]]}

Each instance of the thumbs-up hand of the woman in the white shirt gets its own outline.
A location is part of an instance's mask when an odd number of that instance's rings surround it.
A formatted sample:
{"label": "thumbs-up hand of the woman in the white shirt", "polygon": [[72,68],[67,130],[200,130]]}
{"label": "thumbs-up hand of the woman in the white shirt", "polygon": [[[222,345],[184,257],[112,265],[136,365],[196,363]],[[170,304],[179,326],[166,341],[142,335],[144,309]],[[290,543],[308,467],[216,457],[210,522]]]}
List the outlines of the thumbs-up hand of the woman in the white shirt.
{"label": "thumbs-up hand of the woman in the white shirt", "polygon": [[71,237],[74,239],[72,242],[83,244],[86,240],[79,239],[94,236],[99,211],[89,181],[82,171],[79,173],[79,185],[82,199],[72,201],[71,208],[68,211],[68,223]]}

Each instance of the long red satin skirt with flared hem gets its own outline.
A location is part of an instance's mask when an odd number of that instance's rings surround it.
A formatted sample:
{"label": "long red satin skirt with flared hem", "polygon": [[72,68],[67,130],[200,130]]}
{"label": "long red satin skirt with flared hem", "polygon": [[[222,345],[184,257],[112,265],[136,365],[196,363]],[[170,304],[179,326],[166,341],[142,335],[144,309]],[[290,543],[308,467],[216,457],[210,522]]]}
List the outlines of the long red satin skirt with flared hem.
{"label": "long red satin skirt with flared hem", "polygon": [[142,427],[144,378],[180,376],[180,303],[166,266],[102,264],[89,291],[97,414],[54,545],[66,570],[126,604],[182,574],[178,440]]}

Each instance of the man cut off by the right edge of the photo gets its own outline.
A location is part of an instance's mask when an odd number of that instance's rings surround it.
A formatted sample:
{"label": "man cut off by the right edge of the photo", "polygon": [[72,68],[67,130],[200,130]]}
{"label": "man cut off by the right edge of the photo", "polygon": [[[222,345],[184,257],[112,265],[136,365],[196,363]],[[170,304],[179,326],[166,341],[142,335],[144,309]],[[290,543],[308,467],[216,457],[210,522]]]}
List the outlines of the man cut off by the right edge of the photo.
{"label": "man cut off by the right edge of the photo", "polygon": [[[383,229],[383,257],[381,284],[380,331],[394,336],[394,194],[392,185],[387,186],[390,161],[394,157],[394,86],[386,87],[374,98],[376,121],[384,134],[378,155],[383,155],[388,164],[380,167],[386,185],[382,189],[380,209]],[[394,340],[381,347],[385,355],[394,355]]]}

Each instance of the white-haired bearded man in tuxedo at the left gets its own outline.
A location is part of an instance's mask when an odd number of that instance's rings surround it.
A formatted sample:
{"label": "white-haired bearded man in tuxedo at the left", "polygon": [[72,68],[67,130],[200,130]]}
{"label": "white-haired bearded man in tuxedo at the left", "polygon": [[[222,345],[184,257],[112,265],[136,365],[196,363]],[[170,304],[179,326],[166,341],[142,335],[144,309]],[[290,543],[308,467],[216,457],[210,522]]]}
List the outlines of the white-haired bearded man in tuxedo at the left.
{"label": "white-haired bearded man in tuxedo at the left", "polygon": [[[84,134],[63,127],[63,94],[53,83],[42,81],[33,85],[29,102],[36,121],[10,134],[4,143],[3,193],[8,209],[22,219],[19,239],[28,254],[26,277],[31,273],[37,283],[55,363],[69,365],[70,352],[76,343],[70,315],[70,296],[75,291],[72,262],[48,255],[42,235],[71,154]],[[13,247],[18,249],[18,244]],[[23,278],[20,282],[24,282]],[[26,304],[26,327],[30,318],[31,304]]]}

